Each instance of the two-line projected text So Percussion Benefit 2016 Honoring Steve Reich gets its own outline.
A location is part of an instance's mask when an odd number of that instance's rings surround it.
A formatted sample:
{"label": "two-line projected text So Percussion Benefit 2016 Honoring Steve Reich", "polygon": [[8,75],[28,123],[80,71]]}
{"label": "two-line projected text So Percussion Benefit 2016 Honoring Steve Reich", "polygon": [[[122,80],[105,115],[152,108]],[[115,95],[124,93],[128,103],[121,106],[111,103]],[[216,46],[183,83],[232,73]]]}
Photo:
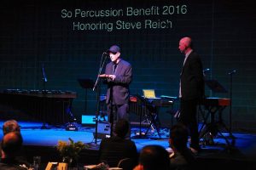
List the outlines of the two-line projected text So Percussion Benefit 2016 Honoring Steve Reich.
{"label": "two-line projected text So Percussion Benefit 2016 Honoring Steve Reich", "polygon": [[185,4],[148,8],[63,8],[61,18],[71,22],[73,31],[172,29],[172,16],[187,13]]}

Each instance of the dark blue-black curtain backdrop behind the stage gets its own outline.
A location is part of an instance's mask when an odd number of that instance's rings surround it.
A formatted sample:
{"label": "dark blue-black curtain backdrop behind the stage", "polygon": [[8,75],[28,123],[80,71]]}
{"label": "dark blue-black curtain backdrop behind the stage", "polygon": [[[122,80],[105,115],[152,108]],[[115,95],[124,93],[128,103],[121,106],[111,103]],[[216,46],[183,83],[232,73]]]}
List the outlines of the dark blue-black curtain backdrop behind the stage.
{"label": "dark blue-black curtain backdrop behind the stage", "polygon": [[[111,45],[119,44],[122,57],[133,66],[131,94],[142,94],[143,88],[154,88],[158,95],[177,96],[183,62],[178,41],[189,36],[194,40],[204,68],[211,70],[207,78],[218,80],[229,93],[228,72],[236,70],[233,75],[233,127],[253,130],[256,128],[254,7],[253,1],[248,0],[2,1],[0,88],[43,89],[44,63],[48,77],[46,88],[76,92],[73,113],[78,119],[81,115],[94,115],[96,93],[88,90],[85,113],[85,90],[79,86],[78,79],[95,81],[102,53]],[[126,13],[127,8],[133,9],[132,16]],[[143,14],[146,8],[149,8],[147,14]],[[105,16],[81,17],[77,14],[75,17],[75,9],[103,10]],[[116,10],[113,15],[118,10],[123,14],[106,16],[106,10]],[[71,11],[72,16],[67,11]],[[145,22],[151,24],[145,25]],[[73,23],[80,23],[80,30]],[[113,28],[103,26],[108,23],[112,23]],[[90,30],[83,30],[83,24],[90,24]],[[102,94],[105,91],[102,85]],[[207,96],[229,98],[229,93],[214,94],[206,88]],[[229,107],[224,111],[225,121],[228,115]],[[160,117],[166,124],[171,120],[166,113]]]}

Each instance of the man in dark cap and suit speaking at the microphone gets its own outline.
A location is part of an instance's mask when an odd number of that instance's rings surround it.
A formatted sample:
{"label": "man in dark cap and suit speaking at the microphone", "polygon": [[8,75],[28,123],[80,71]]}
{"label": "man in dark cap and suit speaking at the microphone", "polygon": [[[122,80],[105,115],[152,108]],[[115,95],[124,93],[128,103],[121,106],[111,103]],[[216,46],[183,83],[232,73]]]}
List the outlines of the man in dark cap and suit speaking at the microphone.
{"label": "man in dark cap and suit speaking at the microphone", "polygon": [[130,90],[129,84],[132,79],[131,64],[120,58],[120,48],[113,45],[108,49],[111,62],[106,65],[105,76],[107,77],[108,92],[108,121],[113,123],[113,113],[116,111],[116,119],[128,120]]}

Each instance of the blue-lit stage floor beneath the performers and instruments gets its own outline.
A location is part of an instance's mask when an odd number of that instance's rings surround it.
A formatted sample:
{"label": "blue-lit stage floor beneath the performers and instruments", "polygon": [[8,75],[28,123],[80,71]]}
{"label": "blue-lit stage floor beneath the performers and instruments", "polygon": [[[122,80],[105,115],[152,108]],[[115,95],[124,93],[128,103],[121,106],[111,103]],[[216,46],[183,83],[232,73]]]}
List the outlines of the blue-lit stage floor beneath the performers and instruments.
{"label": "blue-lit stage floor beneath the performers and instruments", "polygon": [[[68,138],[74,141],[82,141],[85,144],[95,144],[93,133],[95,127],[79,126],[78,131],[67,131],[65,126],[48,126],[48,129],[41,129],[42,122],[19,122],[21,126],[21,133],[24,139],[24,145],[30,147],[51,147],[55,148],[58,140],[68,141]],[[0,127],[3,127],[3,122],[0,122]],[[145,132],[143,128],[143,132]],[[139,132],[138,127],[131,127],[131,137]],[[137,150],[140,151],[143,146],[148,144],[160,144],[168,148],[168,130],[166,128],[160,129],[162,139],[158,139],[156,132],[149,131],[151,134],[148,139],[132,139],[137,145]],[[225,134],[224,135],[228,135]],[[227,147],[224,139],[217,136],[214,139],[214,144],[202,145],[202,150],[199,157],[203,159],[229,159],[235,161],[256,161],[256,134],[253,133],[234,133],[236,137],[235,147]],[[0,134],[2,139],[3,133]],[[100,144],[100,139],[97,139],[97,144]],[[97,148],[91,148],[97,150]],[[253,163],[254,165],[254,163]]]}

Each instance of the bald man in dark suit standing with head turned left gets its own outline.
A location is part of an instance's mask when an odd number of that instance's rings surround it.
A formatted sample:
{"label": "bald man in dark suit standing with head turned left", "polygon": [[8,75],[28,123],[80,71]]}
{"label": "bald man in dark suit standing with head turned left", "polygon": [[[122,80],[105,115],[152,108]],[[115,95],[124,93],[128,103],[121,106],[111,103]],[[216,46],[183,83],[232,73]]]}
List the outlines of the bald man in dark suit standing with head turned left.
{"label": "bald man in dark suit standing with head turned left", "polygon": [[204,77],[201,58],[192,48],[190,37],[183,37],[179,41],[179,50],[185,54],[183,68],[180,74],[180,116],[182,122],[189,128],[191,137],[190,150],[197,153],[200,150],[196,112],[199,101],[204,96]]}

